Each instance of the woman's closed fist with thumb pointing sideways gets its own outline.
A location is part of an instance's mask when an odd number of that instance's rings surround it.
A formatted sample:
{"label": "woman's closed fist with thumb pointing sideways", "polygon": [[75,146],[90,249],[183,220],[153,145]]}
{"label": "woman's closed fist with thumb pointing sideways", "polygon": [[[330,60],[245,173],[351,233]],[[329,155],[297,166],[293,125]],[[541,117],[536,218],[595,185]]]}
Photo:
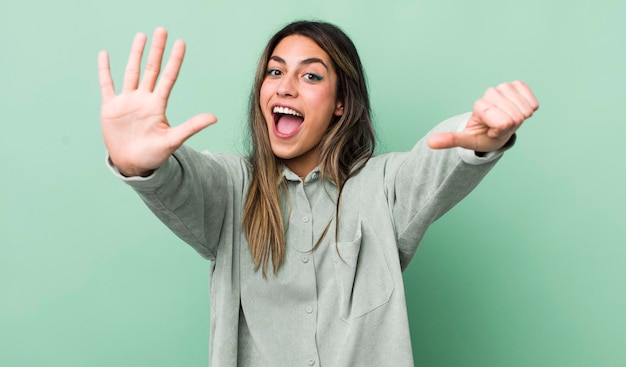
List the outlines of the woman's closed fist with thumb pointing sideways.
{"label": "woman's closed fist with thumb pointing sideways", "polygon": [[524,82],[502,83],[487,89],[476,101],[465,130],[433,135],[428,139],[428,146],[433,149],[462,147],[476,152],[498,150],[537,108],[537,98]]}

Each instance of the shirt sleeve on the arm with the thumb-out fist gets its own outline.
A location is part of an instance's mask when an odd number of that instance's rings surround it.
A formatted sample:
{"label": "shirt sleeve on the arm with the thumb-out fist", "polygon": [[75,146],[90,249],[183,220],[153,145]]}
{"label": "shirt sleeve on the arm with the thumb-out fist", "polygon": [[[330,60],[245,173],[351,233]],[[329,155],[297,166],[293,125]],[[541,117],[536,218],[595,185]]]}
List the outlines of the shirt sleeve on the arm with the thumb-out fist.
{"label": "shirt sleeve on the arm with the thumb-out fist", "polygon": [[463,148],[428,147],[430,135],[462,130],[468,118],[469,114],[463,114],[442,122],[410,152],[390,160],[386,186],[402,269],[413,258],[428,227],[467,196],[514,142],[481,156]]}

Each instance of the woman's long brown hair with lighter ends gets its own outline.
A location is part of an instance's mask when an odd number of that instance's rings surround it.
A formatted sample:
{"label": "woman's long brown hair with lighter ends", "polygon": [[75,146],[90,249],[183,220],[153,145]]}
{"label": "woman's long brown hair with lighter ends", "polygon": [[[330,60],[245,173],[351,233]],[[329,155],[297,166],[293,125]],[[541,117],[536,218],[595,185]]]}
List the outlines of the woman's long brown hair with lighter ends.
{"label": "woman's long brown hair with lighter ends", "polygon": [[261,55],[249,103],[252,181],[242,225],[256,269],[261,267],[263,276],[266,276],[270,258],[276,273],[285,256],[285,223],[280,199],[287,186],[282,176],[281,159],[274,155],[270,145],[259,95],[274,48],[291,35],[305,36],[317,43],[330,57],[338,77],[337,99],[343,103],[344,111],[341,116],[334,116],[319,143],[321,179],[331,180],[339,188],[336,219],[346,181],[361,170],[375,147],[365,74],[350,38],[337,26],[325,22],[297,21],[278,31]]}

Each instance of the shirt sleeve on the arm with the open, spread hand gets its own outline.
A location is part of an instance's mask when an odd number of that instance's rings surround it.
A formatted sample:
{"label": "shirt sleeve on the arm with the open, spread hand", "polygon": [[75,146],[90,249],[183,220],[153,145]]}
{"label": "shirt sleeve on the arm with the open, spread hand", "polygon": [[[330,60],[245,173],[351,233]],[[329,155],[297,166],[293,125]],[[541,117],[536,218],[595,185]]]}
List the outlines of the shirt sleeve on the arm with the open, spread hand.
{"label": "shirt sleeve on the arm with the open, spread hand", "polygon": [[108,157],[107,165],[176,235],[203,257],[215,259],[232,198],[227,194],[232,181],[220,156],[183,146],[148,177],[125,177]]}

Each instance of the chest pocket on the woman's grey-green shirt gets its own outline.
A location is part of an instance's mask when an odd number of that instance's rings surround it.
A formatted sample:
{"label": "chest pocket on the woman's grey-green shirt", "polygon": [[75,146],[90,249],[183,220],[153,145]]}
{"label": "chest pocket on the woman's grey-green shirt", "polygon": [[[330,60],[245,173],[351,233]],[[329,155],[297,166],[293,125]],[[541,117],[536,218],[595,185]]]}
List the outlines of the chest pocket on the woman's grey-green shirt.
{"label": "chest pocket on the woman's grey-green shirt", "polygon": [[389,302],[394,289],[389,266],[376,233],[359,223],[352,241],[337,242],[335,277],[339,288],[339,315],[349,321]]}

